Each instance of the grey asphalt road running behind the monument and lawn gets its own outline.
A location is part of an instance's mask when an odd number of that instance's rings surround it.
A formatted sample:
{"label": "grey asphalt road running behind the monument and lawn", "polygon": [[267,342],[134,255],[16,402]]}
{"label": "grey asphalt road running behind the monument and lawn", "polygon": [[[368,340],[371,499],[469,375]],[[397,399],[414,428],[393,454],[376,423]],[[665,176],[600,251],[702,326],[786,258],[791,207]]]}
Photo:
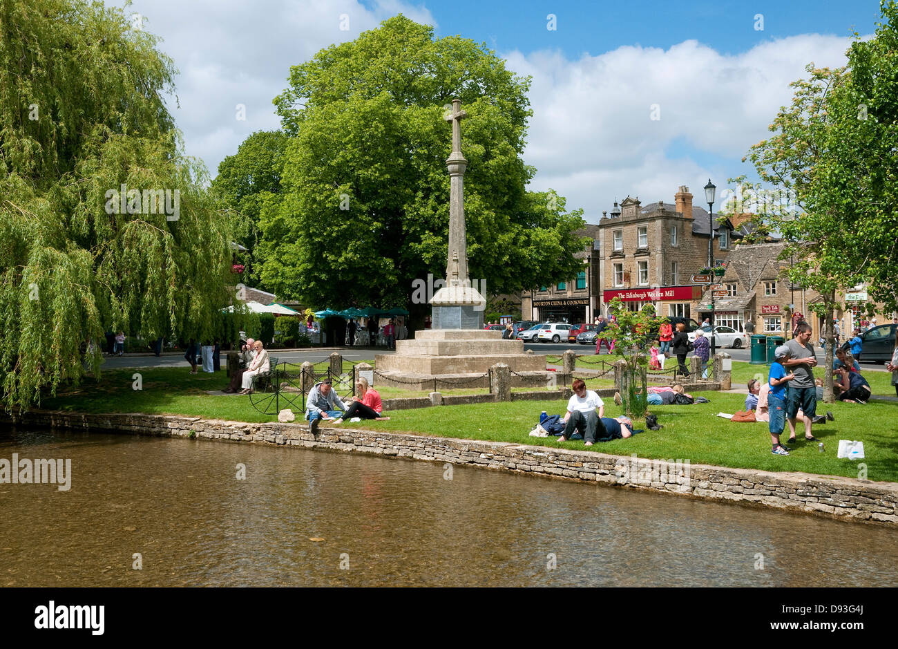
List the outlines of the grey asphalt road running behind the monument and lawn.
{"label": "grey asphalt road running behind the monument and lawn", "polygon": [[[554,344],[552,342],[524,342],[525,350],[533,350],[535,354],[549,354],[551,356],[559,356],[567,350],[576,351],[578,354],[591,354],[594,352],[595,348],[593,345],[580,345],[576,342],[567,343],[567,342],[559,342],[558,344]],[[278,361],[287,361],[290,363],[303,363],[306,360],[311,362],[318,362],[320,360],[326,360],[332,351],[339,351],[344,359],[352,360],[357,362],[359,360],[371,360],[374,358],[375,354],[392,354],[393,351],[386,351],[381,349],[372,349],[368,347],[345,347],[339,350],[334,350],[333,348],[327,349],[313,349],[313,350],[295,350],[295,351],[278,351],[272,350],[271,355],[277,357]],[[733,349],[724,349],[722,351],[726,351],[730,356],[733,357],[733,360],[744,360],[748,361],[751,358],[751,351],[747,349],[733,350]],[[817,352],[817,360],[823,363],[825,358],[825,354],[823,350],[819,348],[815,348]],[[607,355],[608,350],[603,347],[602,354]],[[224,354],[223,354],[224,356]],[[222,363],[225,363],[225,359],[222,359]],[[861,362],[861,369],[870,369],[870,370],[878,370],[885,371],[885,366],[880,365],[878,363],[867,363]],[[163,355],[159,358],[155,356],[122,356],[122,357],[113,357],[107,358],[103,362],[104,369],[119,369],[119,368],[173,368],[173,367],[182,367],[188,368],[189,365],[187,361],[184,360],[184,356],[181,353],[171,354],[171,355]]]}

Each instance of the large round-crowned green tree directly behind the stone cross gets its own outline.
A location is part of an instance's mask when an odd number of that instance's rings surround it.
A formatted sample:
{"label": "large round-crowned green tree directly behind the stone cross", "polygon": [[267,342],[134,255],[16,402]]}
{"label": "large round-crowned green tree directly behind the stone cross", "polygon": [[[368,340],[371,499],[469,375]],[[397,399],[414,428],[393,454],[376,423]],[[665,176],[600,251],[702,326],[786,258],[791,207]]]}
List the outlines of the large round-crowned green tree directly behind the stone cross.
{"label": "large round-crowned green tree directly behind the stone cross", "polygon": [[[445,274],[451,128],[462,100],[471,279],[490,293],[576,276],[582,210],[527,191],[529,79],[461,37],[434,39],[399,15],[291,68],[275,103],[290,138],[279,193],[260,216],[260,276],[279,295],[320,307],[426,304],[412,283]],[[417,317],[416,317],[417,316]]]}

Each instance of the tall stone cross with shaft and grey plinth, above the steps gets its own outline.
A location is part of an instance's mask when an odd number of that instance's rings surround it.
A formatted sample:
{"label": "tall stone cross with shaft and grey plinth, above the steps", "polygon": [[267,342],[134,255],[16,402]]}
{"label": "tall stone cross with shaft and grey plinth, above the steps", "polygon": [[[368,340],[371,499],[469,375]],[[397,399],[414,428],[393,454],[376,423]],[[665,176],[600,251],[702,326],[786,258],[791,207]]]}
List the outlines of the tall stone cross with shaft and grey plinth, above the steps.
{"label": "tall stone cross with shaft and grey plinth, above the steps", "polygon": [[468,277],[468,243],[464,228],[464,170],[462,156],[462,101],[453,99],[444,116],[452,122],[452,153],[446,159],[449,170],[449,254],[446,258],[446,285],[431,298],[434,329],[482,329],[487,300],[471,287]]}

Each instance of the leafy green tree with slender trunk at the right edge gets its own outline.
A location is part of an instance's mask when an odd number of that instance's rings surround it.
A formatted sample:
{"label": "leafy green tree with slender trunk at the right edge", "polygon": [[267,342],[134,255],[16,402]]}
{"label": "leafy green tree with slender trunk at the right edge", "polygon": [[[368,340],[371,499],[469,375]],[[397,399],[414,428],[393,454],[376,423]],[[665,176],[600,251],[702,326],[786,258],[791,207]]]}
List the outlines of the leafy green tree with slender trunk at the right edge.
{"label": "leafy green tree with slender trunk at the right edge", "polygon": [[[782,236],[789,279],[823,298],[814,312],[825,323],[827,367],[841,291],[866,282],[871,298],[896,306],[898,5],[881,6],[874,38],[852,43],[846,67],[810,64],[770,124],[773,135],[749,154],[762,182],[786,191],[787,200],[754,200],[756,218]],[[747,189],[770,196],[760,184]],[[824,399],[832,398],[827,372]]]}

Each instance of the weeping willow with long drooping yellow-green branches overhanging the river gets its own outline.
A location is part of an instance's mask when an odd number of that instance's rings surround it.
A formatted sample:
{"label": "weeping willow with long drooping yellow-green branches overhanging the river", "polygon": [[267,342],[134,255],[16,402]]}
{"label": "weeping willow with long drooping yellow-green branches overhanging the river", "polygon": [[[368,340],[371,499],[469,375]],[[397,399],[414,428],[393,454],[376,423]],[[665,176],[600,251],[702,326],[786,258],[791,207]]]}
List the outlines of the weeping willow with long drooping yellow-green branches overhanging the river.
{"label": "weeping willow with long drooping yellow-green branches overhanging the river", "polygon": [[0,380],[7,406],[98,370],[105,331],[216,334],[229,223],[182,155],[172,61],[120,9],[0,2]]}

